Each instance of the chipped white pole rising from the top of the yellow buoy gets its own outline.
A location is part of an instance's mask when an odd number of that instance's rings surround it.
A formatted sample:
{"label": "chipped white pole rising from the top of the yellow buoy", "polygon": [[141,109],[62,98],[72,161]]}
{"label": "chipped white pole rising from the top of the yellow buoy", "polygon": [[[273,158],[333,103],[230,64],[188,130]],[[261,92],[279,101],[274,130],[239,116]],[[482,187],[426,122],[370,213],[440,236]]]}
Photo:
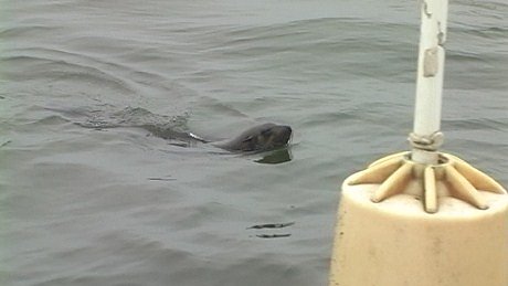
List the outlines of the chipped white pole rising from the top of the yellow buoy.
{"label": "chipped white pole rising from the top of the yellow buoy", "polygon": [[419,68],[411,158],[425,165],[437,163],[441,145],[441,98],[448,0],[422,0]]}

